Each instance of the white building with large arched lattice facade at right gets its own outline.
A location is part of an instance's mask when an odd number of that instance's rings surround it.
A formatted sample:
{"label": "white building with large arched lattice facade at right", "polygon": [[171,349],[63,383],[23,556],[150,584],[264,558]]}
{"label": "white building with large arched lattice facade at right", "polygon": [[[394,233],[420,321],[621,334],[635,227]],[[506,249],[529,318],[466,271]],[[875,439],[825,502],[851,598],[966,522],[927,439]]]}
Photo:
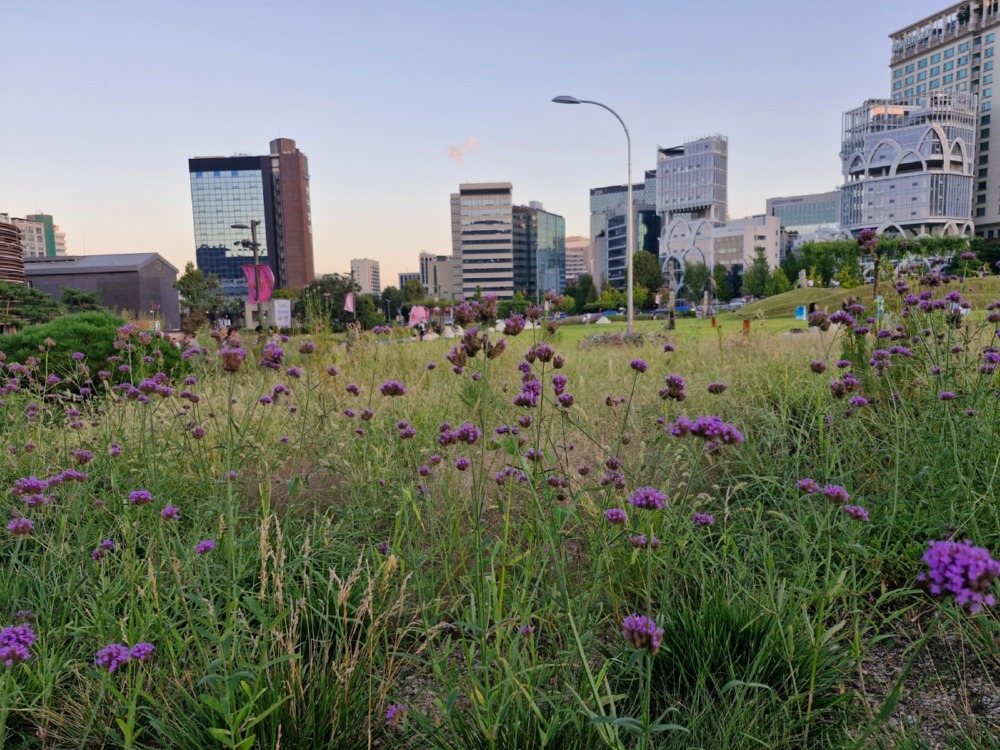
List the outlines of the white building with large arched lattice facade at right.
{"label": "white building with large arched lattice facade at right", "polygon": [[903,237],[971,235],[975,137],[976,96],[969,91],[869,99],[844,113],[841,227],[854,234],[872,227]]}

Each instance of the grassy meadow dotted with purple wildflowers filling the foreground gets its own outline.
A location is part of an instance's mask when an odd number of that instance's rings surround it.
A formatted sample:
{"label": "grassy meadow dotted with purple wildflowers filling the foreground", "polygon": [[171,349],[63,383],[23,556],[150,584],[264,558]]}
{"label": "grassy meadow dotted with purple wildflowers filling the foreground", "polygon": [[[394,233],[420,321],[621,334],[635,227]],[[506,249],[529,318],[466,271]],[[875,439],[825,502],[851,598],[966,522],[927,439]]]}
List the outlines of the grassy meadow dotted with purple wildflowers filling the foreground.
{"label": "grassy meadow dotted with purple wildflowers filling the foreground", "polygon": [[0,355],[0,745],[988,746],[1000,304],[897,293],[786,338],[568,348],[486,300],[419,345]]}

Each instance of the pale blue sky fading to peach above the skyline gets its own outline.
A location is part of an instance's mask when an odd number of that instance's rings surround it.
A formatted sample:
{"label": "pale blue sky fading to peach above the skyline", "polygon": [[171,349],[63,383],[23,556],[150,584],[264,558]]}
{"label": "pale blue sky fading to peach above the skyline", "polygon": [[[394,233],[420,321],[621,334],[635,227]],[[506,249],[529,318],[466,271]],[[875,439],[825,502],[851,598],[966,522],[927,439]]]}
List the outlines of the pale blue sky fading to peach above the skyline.
{"label": "pale blue sky fading to peach above the skyline", "polygon": [[589,190],[729,138],[729,214],[840,183],[842,113],[890,94],[888,35],[941,0],[6,0],[0,213],[71,254],[194,260],[187,159],[309,158],[317,273],[383,286],[451,252],[449,196],[511,182],[589,232]]}

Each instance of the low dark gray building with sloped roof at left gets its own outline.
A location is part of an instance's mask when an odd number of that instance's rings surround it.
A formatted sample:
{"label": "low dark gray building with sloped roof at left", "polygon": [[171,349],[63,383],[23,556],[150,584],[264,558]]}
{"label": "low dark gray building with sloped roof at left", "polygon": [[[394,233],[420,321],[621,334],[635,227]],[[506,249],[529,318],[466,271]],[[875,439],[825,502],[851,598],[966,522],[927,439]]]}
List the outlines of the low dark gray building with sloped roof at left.
{"label": "low dark gray building with sloped roof at left", "polygon": [[97,292],[102,305],[124,317],[155,316],[166,330],[180,328],[177,269],[159,253],[25,258],[24,272],[33,288],[56,299],[64,287]]}

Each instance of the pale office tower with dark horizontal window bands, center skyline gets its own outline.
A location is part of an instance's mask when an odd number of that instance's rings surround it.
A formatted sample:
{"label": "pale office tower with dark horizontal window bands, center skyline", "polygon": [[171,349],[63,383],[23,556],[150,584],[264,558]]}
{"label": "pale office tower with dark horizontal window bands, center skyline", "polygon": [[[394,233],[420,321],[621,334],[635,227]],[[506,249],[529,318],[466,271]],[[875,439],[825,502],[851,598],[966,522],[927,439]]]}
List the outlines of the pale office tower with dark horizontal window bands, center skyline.
{"label": "pale office tower with dark horizontal window bands, center skyline", "polygon": [[513,186],[509,182],[459,185],[451,194],[455,286],[463,297],[477,290],[514,296]]}

